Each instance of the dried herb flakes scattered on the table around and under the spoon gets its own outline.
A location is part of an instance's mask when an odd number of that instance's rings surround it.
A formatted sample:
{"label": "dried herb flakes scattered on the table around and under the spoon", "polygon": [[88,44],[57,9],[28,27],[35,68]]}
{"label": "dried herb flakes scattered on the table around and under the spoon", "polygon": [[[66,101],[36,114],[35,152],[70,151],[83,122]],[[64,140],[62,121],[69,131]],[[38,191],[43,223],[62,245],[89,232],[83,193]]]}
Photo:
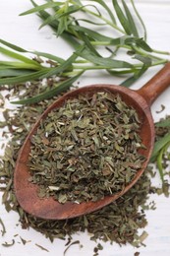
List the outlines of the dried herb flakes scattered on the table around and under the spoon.
{"label": "dried herb flakes scattered on the table around and under the spoon", "polygon": [[[52,87],[52,83],[50,81]],[[14,87],[11,92],[15,92],[20,97],[25,85]],[[31,86],[29,92],[32,94]],[[36,83],[36,90],[40,90],[41,85]],[[10,91],[10,90],[9,90]],[[34,92],[36,93],[36,92]],[[149,169],[144,172],[139,182],[122,198],[103,209],[67,221],[44,221],[28,215],[20,208],[13,190],[13,174],[15,162],[19,150],[28,134],[29,127],[34,124],[35,119],[41,114],[43,109],[50,104],[50,101],[44,100],[30,106],[21,106],[15,111],[4,110],[6,121],[1,121],[1,127],[10,129],[11,136],[4,156],[0,160],[0,187],[3,191],[3,204],[8,212],[17,211],[20,216],[20,222],[24,228],[29,226],[49,237],[51,241],[55,238],[65,239],[77,231],[87,231],[90,233],[90,239],[98,242],[99,240],[116,242],[119,244],[131,243],[135,246],[142,244],[146,233],[139,234],[139,229],[147,224],[144,209],[154,209],[154,204],[148,205],[147,198],[149,193],[156,191],[151,187]],[[10,115],[12,116],[10,117]],[[169,129],[169,128],[168,128]],[[169,129],[170,130],[170,129]],[[167,131],[166,131],[167,132]],[[159,136],[164,136],[164,133]],[[167,174],[167,173],[166,173]],[[169,185],[166,183],[166,195],[168,195]],[[159,189],[159,193],[165,192]],[[72,240],[72,238],[71,238]],[[97,249],[95,249],[97,250]]]}

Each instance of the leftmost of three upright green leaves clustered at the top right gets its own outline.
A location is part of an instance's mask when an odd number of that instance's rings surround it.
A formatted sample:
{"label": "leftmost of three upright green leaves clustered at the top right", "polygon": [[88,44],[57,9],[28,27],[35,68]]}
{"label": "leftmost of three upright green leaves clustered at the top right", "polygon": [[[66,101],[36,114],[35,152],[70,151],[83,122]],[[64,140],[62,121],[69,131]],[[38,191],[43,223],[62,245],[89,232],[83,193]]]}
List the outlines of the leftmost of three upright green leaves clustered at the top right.
{"label": "leftmost of three upright green leaves clustered at the top right", "polygon": [[129,26],[129,21],[126,18],[126,16],[124,15],[124,13],[123,13],[121,7],[119,6],[117,0],[112,0],[112,3],[113,3],[113,6],[115,8],[117,17],[118,17],[122,27],[124,28],[125,32],[127,34],[132,34],[131,28]]}

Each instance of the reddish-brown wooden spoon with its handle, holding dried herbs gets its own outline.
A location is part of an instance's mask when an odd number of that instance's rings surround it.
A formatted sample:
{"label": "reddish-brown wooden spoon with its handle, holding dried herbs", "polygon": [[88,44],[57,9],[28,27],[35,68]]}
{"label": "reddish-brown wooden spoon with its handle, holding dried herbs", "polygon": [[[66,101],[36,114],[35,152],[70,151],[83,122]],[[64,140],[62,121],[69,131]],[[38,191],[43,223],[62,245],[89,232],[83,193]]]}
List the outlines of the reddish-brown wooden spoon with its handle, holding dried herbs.
{"label": "reddish-brown wooden spoon with its handle, holding dried herbs", "polygon": [[[170,63],[167,63],[157,75],[155,75],[142,89],[134,91],[121,86],[113,85],[91,85],[72,91],[54,101],[36,121],[30,130],[28,137],[20,151],[14,174],[14,187],[17,200],[20,206],[28,214],[45,220],[63,220],[78,217],[96,211],[126,193],[141,177],[154,145],[154,124],[150,112],[150,105],[170,85]],[[52,197],[39,199],[37,195],[38,186],[28,181],[28,155],[30,152],[30,138],[36,133],[40,121],[44,119],[53,108],[62,106],[68,98],[77,97],[79,94],[92,95],[96,92],[109,91],[112,94],[119,94],[123,100],[133,106],[139,113],[142,121],[140,136],[146,150],[141,149],[140,153],[146,158],[132,182],[120,193],[107,196],[97,202],[88,203],[65,203],[60,204]]]}

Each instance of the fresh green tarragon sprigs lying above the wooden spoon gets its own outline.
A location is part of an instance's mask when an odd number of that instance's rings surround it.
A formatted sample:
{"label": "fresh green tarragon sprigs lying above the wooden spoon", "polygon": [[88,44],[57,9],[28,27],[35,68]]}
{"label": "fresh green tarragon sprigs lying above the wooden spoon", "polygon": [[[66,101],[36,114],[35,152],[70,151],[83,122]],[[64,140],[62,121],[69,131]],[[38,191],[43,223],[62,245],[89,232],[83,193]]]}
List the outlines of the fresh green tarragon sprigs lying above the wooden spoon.
{"label": "fresh green tarragon sprigs lying above the wooden spoon", "polygon": [[[50,26],[57,37],[62,36],[74,48],[71,56],[63,59],[45,52],[28,52],[1,39],[0,52],[15,61],[0,61],[0,85],[65,78],[56,83],[55,90],[47,89],[41,95],[15,101],[17,103],[33,103],[66,91],[88,70],[106,70],[112,76],[126,75],[122,85],[129,87],[149,67],[168,61],[157,54],[168,55],[168,52],[154,50],[147,44],[146,29],[133,0],[130,7],[124,0],[122,5],[112,0],[111,8],[103,0],[47,0],[42,5],[30,1],[33,8],[21,15],[36,13],[42,20],[40,28]],[[137,26],[139,21],[141,25]],[[25,56],[27,53],[33,57]],[[119,54],[126,55],[125,60]]]}

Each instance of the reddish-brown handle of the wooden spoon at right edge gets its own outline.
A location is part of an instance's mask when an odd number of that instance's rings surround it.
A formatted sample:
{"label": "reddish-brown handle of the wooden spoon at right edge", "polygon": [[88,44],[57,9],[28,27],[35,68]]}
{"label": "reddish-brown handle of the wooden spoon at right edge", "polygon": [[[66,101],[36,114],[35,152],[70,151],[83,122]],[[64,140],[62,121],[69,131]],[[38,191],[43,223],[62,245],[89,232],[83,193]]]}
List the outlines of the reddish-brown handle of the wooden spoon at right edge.
{"label": "reddish-brown handle of the wooden spoon at right edge", "polygon": [[144,97],[150,106],[153,101],[160,96],[170,86],[170,62],[151,78],[140,90],[138,94]]}

